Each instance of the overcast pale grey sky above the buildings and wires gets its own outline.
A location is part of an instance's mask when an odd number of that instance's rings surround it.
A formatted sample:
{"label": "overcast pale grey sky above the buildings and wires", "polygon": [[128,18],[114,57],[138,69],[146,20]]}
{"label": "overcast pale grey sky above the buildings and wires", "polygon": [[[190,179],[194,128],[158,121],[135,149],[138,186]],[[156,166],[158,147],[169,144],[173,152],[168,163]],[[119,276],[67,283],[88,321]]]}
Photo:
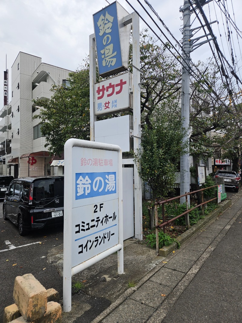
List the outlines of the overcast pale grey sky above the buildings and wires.
{"label": "overcast pale grey sky above the buildings and wires", "polygon": [[[109,0],[109,3],[111,2],[113,1]],[[154,26],[136,0],[129,0],[129,2],[150,26]],[[140,2],[149,10],[144,0],[140,0]],[[217,23],[213,24],[212,28],[222,50],[221,41],[223,42],[225,55],[232,64],[228,54],[222,16],[216,2],[217,0],[214,0],[204,6],[204,10],[208,20],[213,21],[216,20],[214,7],[216,8],[222,39],[219,36]],[[119,0],[119,3],[129,13],[133,11],[125,0]],[[183,21],[180,19],[182,14],[179,12],[179,7],[183,5],[183,0],[149,0],[149,3],[174,36],[180,40],[182,35],[179,28],[182,27]],[[231,18],[236,21],[239,30],[242,30],[241,0],[227,0],[225,4],[228,5]],[[0,0],[0,78],[3,80],[7,54],[7,68],[10,72],[9,93],[11,93],[11,67],[19,51],[42,57],[42,62],[74,71],[82,65],[83,59],[89,54],[89,35],[94,32],[92,15],[106,5],[108,5],[106,0]],[[153,17],[158,22],[157,18]],[[194,18],[193,14],[191,21]],[[158,24],[161,26],[160,23]],[[141,28],[146,26],[142,21],[140,25]],[[195,20],[192,27],[197,26],[199,26],[199,22]],[[164,31],[164,28],[162,30]],[[242,38],[237,39],[235,30],[233,28],[231,30],[233,31],[238,65],[242,66],[239,50],[242,51]],[[171,37],[169,36],[169,38]],[[211,51],[207,45],[203,45],[191,53],[194,62],[198,59],[206,61],[208,57],[211,57]],[[240,74],[242,76],[242,70]],[[10,100],[11,96],[9,96],[9,102]],[[0,102],[1,109],[3,107],[3,88]]]}

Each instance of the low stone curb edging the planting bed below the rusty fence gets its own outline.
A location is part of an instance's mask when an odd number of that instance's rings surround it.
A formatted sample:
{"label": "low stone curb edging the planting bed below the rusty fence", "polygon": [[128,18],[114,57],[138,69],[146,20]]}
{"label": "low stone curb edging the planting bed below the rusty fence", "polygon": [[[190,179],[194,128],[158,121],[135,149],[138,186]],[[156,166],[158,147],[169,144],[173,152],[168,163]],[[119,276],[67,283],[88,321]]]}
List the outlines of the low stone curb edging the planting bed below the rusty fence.
{"label": "low stone curb edging the planting bed below the rusty fence", "polygon": [[[225,211],[230,205],[232,205],[231,200],[226,200],[221,202],[220,205],[214,211],[205,215],[205,218],[200,219],[196,224],[190,227],[183,234],[179,235],[176,240],[182,245],[187,239],[189,239],[193,234],[195,234],[199,229],[201,229],[208,222],[213,220],[219,213]],[[159,250],[159,256],[167,257],[172,251],[177,249],[177,243],[174,242],[172,245],[164,246]]]}

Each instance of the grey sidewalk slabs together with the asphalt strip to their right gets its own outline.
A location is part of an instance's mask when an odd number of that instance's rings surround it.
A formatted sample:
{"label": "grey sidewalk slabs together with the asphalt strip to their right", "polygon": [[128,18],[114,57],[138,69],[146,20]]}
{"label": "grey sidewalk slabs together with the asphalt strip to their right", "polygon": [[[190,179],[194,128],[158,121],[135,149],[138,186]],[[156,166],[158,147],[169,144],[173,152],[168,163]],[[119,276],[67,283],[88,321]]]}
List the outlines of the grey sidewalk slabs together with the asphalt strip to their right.
{"label": "grey sidewalk slabs together with the asphalt strip to their right", "polygon": [[242,322],[241,202],[234,196],[230,208],[92,322]]}

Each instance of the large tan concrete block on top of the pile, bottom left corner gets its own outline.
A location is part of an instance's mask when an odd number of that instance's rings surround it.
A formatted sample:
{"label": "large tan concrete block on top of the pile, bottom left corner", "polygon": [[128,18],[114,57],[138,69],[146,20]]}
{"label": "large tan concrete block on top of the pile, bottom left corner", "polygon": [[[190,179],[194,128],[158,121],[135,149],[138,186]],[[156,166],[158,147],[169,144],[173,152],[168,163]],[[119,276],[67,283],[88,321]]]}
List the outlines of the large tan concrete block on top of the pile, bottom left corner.
{"label": "large tan concrete block on top of the pile, bottom left corner", "polygon": [[15,278],[13,297],[27,322],[41,318],[46,312],[47,291],[32,274]]}

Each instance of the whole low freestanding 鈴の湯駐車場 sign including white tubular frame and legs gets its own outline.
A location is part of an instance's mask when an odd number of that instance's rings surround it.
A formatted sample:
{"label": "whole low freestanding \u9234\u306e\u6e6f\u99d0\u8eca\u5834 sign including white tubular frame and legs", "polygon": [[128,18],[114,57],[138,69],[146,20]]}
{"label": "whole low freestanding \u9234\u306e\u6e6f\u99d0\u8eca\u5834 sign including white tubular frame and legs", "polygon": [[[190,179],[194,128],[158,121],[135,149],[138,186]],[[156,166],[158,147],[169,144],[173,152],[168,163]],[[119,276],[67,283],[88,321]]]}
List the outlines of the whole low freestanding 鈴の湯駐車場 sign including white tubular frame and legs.
{"label": "whole low freestanding \u9234\u306e\u6e6f\u99d0\u8eca\u5834 sign including white tubular frame and legs", "polygon": [[71,276],[118,251],[123,273],[122,153],[116,145],[69,139],[65,148],[63,308]]}

